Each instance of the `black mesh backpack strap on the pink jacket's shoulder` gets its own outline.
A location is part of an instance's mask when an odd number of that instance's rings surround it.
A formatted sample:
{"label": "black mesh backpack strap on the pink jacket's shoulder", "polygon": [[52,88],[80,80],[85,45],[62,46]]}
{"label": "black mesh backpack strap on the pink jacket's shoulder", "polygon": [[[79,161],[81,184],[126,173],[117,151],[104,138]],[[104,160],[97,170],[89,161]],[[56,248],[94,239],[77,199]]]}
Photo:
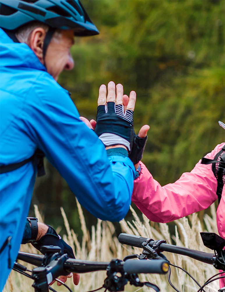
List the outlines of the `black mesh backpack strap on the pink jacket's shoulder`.
{"label": "black mesh backpack strap on the pink jacket's shoulder", "polygon": [[217,196],[220,202],[222,196],[222,190],[225,183],[225,147],[223,147],[214,157],[214,159],[208,159],[202,157],[201,164],[211,164],[212,172],[217,179]]}

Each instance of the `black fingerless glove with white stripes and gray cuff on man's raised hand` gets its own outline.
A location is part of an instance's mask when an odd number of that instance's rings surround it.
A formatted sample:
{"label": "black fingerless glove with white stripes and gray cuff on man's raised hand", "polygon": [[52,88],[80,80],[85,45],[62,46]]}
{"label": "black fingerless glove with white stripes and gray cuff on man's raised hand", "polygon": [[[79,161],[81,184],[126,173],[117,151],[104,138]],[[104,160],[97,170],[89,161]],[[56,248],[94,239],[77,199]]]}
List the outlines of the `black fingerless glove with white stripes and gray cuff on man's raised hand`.
{"label": "black fingerless glove with white stripes and gray cuff on man's raised hand", "polygon": [[99,105],[95,133],[105,146],[124,145],[128,152],[134,140],[133,111],[123,111],[123,105],[107,102]]}

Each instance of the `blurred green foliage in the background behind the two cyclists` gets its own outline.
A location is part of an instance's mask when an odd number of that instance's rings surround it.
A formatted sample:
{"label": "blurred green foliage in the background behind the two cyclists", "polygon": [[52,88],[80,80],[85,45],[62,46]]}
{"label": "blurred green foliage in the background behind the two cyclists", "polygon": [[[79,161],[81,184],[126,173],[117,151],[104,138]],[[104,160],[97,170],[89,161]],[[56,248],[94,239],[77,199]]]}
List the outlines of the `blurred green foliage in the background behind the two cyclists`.
{"label": "blurred green foliage in the background behind the two cyclists", "polygon": [[[79,113],[95,118],[98,88],[113,80],[137,92],[134,127],[149,124],[143,162],[161,185],[191,171],[224,142],[224,0],[82,0],[100,31],[77,38],[75,67],[61,74]],[[50,165],[36,184],[46,223],[60,206],[79,233],[75,197]],[[31,211],[32,213],[32,211]],[[87,224],[95,218],[85,212]],[[129,215],[128,215],[129,216]],[[88,226],[90,227],[90,226]]]}

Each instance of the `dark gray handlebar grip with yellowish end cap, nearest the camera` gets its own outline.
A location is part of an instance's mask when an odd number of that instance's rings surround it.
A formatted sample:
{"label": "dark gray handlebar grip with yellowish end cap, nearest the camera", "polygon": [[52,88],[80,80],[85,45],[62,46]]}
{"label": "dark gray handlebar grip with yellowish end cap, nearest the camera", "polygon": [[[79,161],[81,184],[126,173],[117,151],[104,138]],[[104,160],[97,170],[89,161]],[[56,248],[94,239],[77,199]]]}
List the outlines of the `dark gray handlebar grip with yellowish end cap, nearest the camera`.
{"label": "dark gray handlebar grip with yellowish end cap, nearest the camera", "polygon": [[166,274],[169,265],[165,260],[126,260],[123,269],[128,274]]}

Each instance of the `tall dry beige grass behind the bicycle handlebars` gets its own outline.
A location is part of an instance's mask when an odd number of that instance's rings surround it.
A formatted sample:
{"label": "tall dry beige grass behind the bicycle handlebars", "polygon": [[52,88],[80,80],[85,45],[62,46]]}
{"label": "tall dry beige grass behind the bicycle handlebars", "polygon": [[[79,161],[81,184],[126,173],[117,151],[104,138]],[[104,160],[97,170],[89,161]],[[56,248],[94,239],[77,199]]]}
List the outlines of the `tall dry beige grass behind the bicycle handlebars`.
{"label": "tall dry beige grass behind the bicycle handlebars", "polygon": [[[94,261],[110,261],[112,258],[123,259],[132,253],[141,253],[140,248],[132,248],[131,246],[123,246],[119,243],[117,237],[115,236],[114,225],[108,221],[98,220],[97,226],[92,226],[91,237],[86,228],[85,218],[82,212],[82,208],[77,201],[80,222],[83,231],[82,244],[77,240],[77,236],[70,228],[66,214],[61,208],[61,213],[64,219],[64,224],[67,230],[67,234],[63,235],[63,239],[72,247],[77,259],[82,260],[94,260]],[[201,240],[199,232],[203,231],[201,223],[194,213],[188,218],[182,218],[176,220],[175,235],[170,234],[169,227],[167,224],[159,223],[153,228],[150,224],[148,218],[143,215],[143,220],[137,216],[135,211],[131,207],[133,213],[132,222],[122,220],[120,222],[123,232],[129,234],[140,235],[142,237],[150,237],[153,239],[165,239],[167,243],[172,244],[172,239],[176,242],[178,246],[185,246],[187,248],[192,248],[200,251],[211,252],[206,248]],[[35,214],[39,222],[42,222],[41,215],[38,211],[37,206],[35,206]],[[205,215],[204,221],[208,232],[217,232],[216,225],[216,209],[215,205],[211,206],[211,214]],[[21,245],[21,251],[37,253],[37,250],[31,245]],[[212,265],[207,265],[201,263],[197,260],[193,260],[187,256],[175,255],[172,253],[164,253],[164,255],[170,260],[171,263],[185,268],[192,276],[200,283],[203,284],[206,279],[211,277],[213,274],[217,273],[217,270]],[[21,262],[23,264],[23,262]],[[32,266],[26,264],[29,269]],[[180,269],[171,267],[171,281],[174,286],[176,286],[182,292],[194,292],[198,290],[198,286],[192,279],[190,279],[187,274],[185,274]],[[80,282],[78,286],[72,283],[72,279],[67,280],[67,285],[72,289],[72,291],[90,291],[102,286],[104,279],[106,277],[105,271],[91,272],[86,274],[81,274]],[[162,292],[172,292],[173,288],[169,285],[166,275],[157,274],[141,274],[141,281],[150,281],[158,285]],[[33,281],[21,274],[12,271],[4,292],[27,292],[33,291],[31,287]],[[68,291],[65,287],[58,287],[56,283],[52,286],[56,291]],[[219,288],[219,282],[215,281],[210,283],[205,288],[206,292],[216,292]],[[100,291],[104,291],[103,288]],[[154,291],[146,286],[138,288],[134,286],[125,286],[125,291],[143,291],[151,292]]]}

